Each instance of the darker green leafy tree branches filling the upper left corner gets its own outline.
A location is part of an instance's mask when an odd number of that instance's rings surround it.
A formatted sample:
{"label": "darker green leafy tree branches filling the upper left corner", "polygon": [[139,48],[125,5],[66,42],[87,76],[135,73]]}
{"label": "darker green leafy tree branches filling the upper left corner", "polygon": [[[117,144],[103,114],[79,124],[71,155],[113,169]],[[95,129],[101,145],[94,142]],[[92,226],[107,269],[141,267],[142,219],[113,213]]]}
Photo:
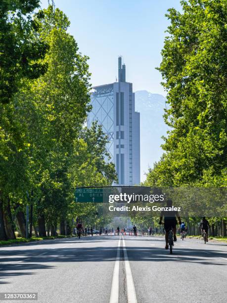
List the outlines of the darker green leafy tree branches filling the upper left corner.
{"label": "darker green leafy tree branches filling the upper left corner", "polygon": [[[8,103],[21,78],[35,79],[45,72],[39,61],[47,45],[38,34],[33,12],[39,0],[2,0],[0,4],[0,102]],[[37,18],[42,18],[37,14]]]}

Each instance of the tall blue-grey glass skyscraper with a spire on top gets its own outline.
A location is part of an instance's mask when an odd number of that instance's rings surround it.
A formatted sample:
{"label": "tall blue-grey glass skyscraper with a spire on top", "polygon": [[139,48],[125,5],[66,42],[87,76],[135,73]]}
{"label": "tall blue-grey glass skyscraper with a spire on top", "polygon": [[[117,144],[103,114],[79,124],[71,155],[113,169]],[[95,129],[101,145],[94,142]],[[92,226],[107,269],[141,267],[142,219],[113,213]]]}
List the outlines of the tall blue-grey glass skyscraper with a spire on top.
{"label": "tall blue-grey glass skyscraper with a spire on top", "polygon": [[108,152],[115,163],[119,185],[140,183],[139,112],[135,111],[133,84],[118,57],[118,82],[93,87],[88,127],[97,120],[108,135]]}

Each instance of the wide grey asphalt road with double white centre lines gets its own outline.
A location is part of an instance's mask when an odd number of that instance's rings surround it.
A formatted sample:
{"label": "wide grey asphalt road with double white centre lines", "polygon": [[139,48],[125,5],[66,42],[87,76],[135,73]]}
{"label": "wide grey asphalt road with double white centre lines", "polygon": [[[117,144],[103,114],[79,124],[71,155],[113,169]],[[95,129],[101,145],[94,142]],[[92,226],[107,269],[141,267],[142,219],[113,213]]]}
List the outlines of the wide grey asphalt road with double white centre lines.
{"label": "wide grey asphalt road with double white centre lines", "polygon": [[94,236],[1,247],[0,292],[38,292],[42,303],[226,303],[227,245],[178,239],[170,255],[162,237]]}

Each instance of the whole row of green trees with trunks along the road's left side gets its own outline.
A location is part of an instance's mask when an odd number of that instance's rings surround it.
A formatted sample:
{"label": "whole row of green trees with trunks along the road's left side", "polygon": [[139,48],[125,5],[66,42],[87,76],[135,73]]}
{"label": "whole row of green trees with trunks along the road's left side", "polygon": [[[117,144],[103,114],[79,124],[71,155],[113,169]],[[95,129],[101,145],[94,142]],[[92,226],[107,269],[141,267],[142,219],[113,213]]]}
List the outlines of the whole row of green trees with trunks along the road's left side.
{"label": "whole row of green trees with trunks along the road's left side", "polygon": [[15,217],[25,237],[26,204],[30,236],[33,228],[41,237],[56,235],[57,226],[69,234],[78,216],[90,215],[94,224],[97,207],[75,203],[75,188],[117,180],[114,164],[104,160],[100,126],[84,126],[88,57],[62,11],[37,8],[38,0],[0,4],[0,240],[15,238]]}

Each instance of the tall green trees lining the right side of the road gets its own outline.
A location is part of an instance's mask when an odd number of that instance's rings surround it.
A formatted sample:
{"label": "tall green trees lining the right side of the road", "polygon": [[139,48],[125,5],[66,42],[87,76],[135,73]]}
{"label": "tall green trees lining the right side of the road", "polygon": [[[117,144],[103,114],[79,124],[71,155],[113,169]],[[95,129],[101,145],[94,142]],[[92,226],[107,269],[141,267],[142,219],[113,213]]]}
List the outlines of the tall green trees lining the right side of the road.
{"label": "tall green trees lining the right side of the road", "polygon": [[[171,24],[158,68],[171,130],[145,185],[227,187],[227,1],[181,3],[182,12],[167,14]],[[222,221],[224,236],[226,204],[220,217],[210,218],[217,226]],[[194,220],[200,218],[189,218]]]}

